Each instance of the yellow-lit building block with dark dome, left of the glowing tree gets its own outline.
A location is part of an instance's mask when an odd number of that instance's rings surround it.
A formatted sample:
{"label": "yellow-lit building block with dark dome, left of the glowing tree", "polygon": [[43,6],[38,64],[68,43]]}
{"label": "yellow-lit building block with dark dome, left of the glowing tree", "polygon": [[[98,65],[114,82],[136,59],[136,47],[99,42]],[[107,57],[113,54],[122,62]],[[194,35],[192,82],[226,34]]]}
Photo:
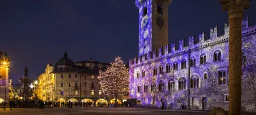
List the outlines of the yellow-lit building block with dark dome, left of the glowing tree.
{"label": "yellow-lit building block with dark dome, left of the glowing tree", "polygon": [[[105,70],[108,63],[99,61],[80,61],[74,63],[68,58],[67,52],[53,66],[49,63],[37,79],[38,85],[35,92],[38,98],[54,102],[93,102],[94,104],[112,104],[115,102],[114,97],[105,96],[100,90],[99,70]],[[122,99],[127,99],[128,95],[120,96],[118,103]]]}

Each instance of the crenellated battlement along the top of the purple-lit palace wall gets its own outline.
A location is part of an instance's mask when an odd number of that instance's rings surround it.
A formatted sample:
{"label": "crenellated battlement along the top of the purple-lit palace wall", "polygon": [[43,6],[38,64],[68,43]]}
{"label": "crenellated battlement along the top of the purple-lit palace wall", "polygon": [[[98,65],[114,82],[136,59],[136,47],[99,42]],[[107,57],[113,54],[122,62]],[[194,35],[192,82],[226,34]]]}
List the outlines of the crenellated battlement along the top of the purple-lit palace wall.
{"label": "crenellated battlement along the top of the purple-lit palace wall", "polygon": [[[242,22],[242,35],[255,33],[256,32],[256,25],[249,26],[249,17],[243,19]],[[176,49],[176,43],[171,43],[170,45],[166,45],[165,47],[159,47],[158,49],[153,50],[152,52],[147,52],[143,54],[143,56],[134,57],[129,60],[130,65],[140,64],[143,61],[150,61],[151,59],[156,59],[157,57],[163,56],[175,56],[177,54],[182,54],[184,52],[188,52],[188,50],[196,50],[207,47],[208,45],[214,45],[215,43],[225,42],[228,40],[229,34],[229,25],[224,25],[224,34],[219,36],[218,33],[218,26],[215,26],[214,29],[210,29],[210,38],[206,40],[205,34],[206,32],[203,31],[202,33],[198,34],[199,42],[195,41],[195,35],[189,36],[189,45],[188,47],[184,46],[185,39],[179,40],[179,50]]]}

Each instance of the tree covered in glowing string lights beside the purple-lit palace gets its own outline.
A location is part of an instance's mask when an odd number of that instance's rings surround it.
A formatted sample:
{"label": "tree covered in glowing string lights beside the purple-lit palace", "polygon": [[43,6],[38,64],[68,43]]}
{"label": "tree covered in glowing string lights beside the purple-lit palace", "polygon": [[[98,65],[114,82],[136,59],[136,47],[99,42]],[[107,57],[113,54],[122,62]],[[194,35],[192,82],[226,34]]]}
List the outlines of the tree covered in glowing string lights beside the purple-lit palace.
{"label": "tree covered in glowing string lights beside the purple-lit palace", "polygon": [[[117,100],[118,95],[122,95],[123,89],[129,86],[129,70],[125,67],[124,61],[121,57],[116,57],[115,62],[103,72],[100,70],[100,88],[105,95],[115,96]],[[115,101],[115,105],[117,101]]]}

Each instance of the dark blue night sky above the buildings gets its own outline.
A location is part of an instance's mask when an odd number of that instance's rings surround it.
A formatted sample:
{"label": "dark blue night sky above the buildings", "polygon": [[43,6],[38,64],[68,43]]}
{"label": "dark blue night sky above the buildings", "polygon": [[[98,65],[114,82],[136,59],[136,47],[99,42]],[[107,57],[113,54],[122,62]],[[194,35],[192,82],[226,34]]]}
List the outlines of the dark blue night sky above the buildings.
{"label": "dark blue night sky above the buildings", "polygon": [[[219,26],[224,33],[227,11],[220,0],[173,0],[169,6],[169,44]],[[256,24],[256,1],[244,11]],[[44,73],[49,61],[109,63],[116,56],[138,56],[138,8],[135,0],[1,0],[0,50],[11,58],[10,77],[15,83],[28,66],[29,77]],[[188,43],[187,43],[188,44]]]}

